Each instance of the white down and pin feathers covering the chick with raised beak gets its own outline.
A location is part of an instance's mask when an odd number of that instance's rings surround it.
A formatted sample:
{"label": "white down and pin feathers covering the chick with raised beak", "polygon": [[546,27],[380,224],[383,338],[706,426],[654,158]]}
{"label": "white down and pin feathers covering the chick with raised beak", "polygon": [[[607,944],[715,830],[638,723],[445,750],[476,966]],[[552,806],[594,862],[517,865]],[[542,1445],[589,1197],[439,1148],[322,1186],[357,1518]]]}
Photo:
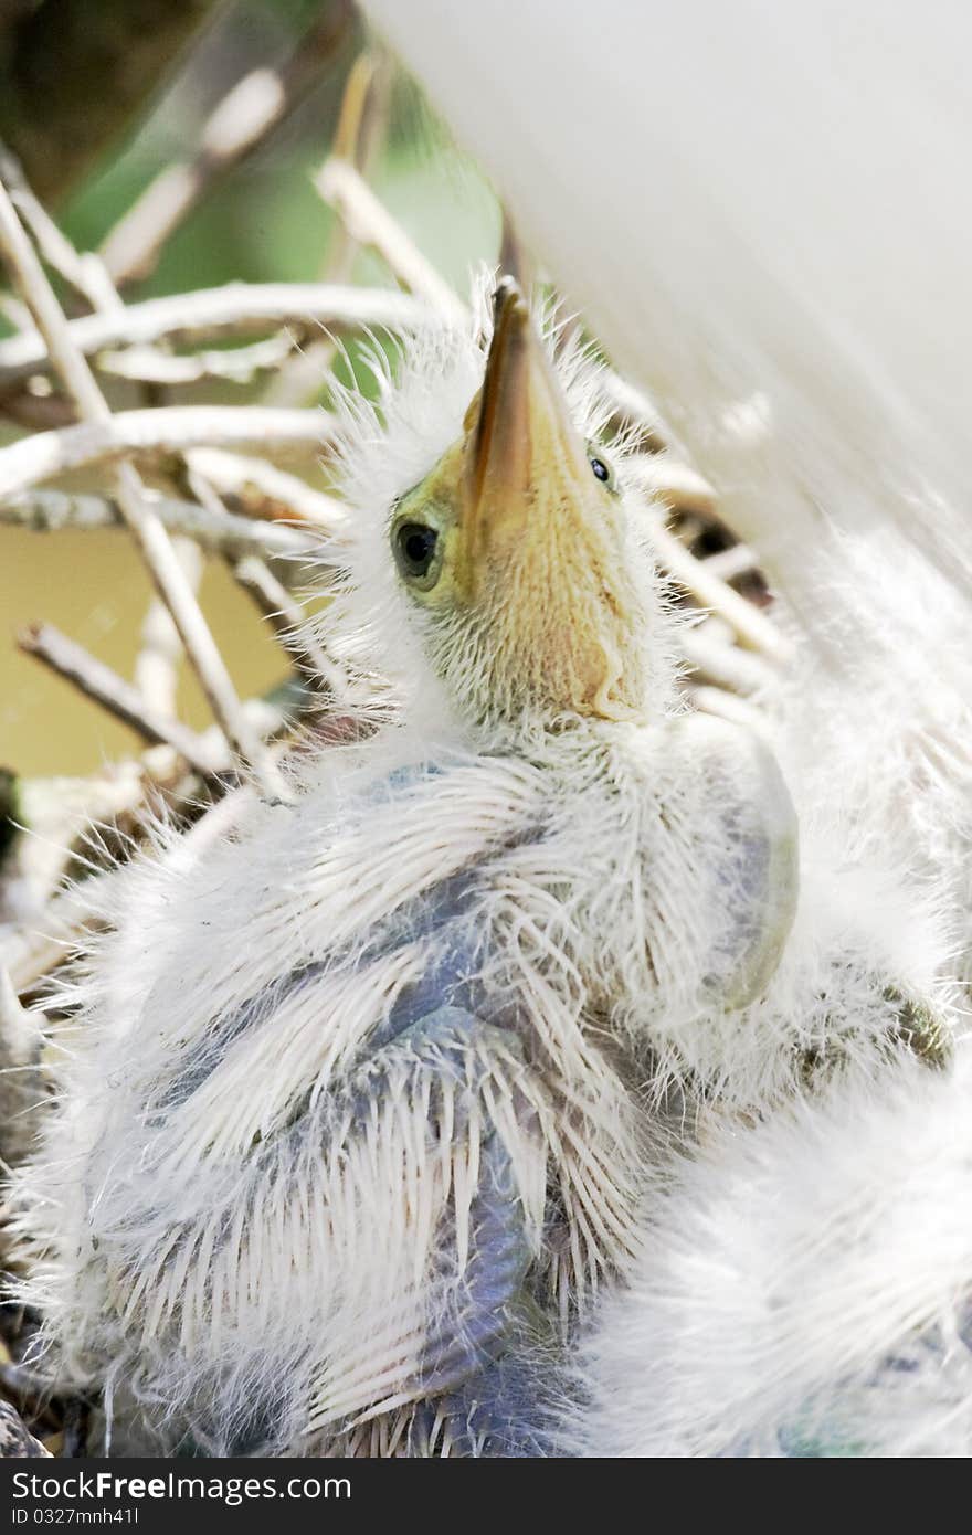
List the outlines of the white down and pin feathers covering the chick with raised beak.
{"label": "white down and pin feathers covering the chick with raised beak", "polygon": [[[385,427],[349,401],[356,536],[332,622],[352,691],[388,678],[384,726],[304,761],[293,809],[253,801],[230,838],[123,870],[68,993],[61,1107],[23,1187],[35,1299],[55,1377],[138,1397],[167,1448],[187,1431],[217,1451],[341,1429],[345,1449],[404,1443],[395,1414],[464,1271],[484,1127],[571,1326],[631,1262],[673,1079],[751,1110],[886,1053],[903,1008],[954,1019],[929,912],[894,867],[848,861],[840,815],[808,818],[794,913],[779,771],[745,732],[679,714],[677,637],[634,536],[643,723],[484,723],[474,655],[433,674],[387,577],[388,508],[458,433],[482,359],[468,335],[407,338]],[[562,367],[594,434],[596,373]],[[393,952],[369,942],[470,867],[470,964],[521,1024],[467,1039],[445,1091],[425,1047],[370,1062],[433,939],[419,923]],[[313,996],[284,984],[309,966]]]}

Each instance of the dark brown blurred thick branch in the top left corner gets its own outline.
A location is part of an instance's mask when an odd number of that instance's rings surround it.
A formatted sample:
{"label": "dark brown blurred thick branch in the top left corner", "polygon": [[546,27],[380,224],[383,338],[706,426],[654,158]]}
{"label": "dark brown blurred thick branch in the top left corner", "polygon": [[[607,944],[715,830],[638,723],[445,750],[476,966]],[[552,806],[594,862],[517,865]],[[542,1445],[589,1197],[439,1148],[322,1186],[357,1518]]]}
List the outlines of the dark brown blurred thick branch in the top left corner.
{"label": "dark brown blurred thick branch in the top left corner", "polygon": [[3,38],[0,134],[45,200],[75,183],[217,0],[34,0]]}

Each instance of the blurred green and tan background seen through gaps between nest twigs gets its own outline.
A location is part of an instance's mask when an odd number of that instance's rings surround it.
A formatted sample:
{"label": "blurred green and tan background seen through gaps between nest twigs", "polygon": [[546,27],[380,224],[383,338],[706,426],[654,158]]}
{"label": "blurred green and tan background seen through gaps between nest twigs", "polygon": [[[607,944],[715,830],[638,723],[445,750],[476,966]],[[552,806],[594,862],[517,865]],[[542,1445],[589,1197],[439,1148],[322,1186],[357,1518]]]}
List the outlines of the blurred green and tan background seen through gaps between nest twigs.
{"label": "blurred green and tan background seen through gaps between nest twigs", "polygon": [[[249,71],[281,63],[326,11],[327,0],[235,0],[220,6],[140,120],[57,207],[72,241],[97,249],[160,170],[192,155],[203,123],[226,91]],[[335,221],[310,175],[329,150],[347,71],[364,41],[359,23],[352,21],[319,83],[252,158],[215,186],[170,239],[150,279],[126,296],[321,275]],[[501,221],[488,187],[399,77],[393,78],[387,132],[370,180],[461,290],[476,262],[496,259]],[[392,282],[367,253],[356,258],[353,279]],[[174,391],[172,402],[243,402],[258,391],[260,385],[193,387]],[[112,393],[112,402],[126,402],[123,388]],[[137,398],[127,402],[141,404]],[[5,441],[14,434],[14,428],[0,430]],[[315,474],[310,460],[287,467]],[[21,657],[12,635],[31,622],[49,620],[131,675],[149,596],[124,533],[40,534],[0,527],[0,766],[23,775],[84,774],[138,744],[66,683]],[[207,565],[201,599],[238,689],[246,695],[276,682],[279,649],[218,560]],[[186,675],[180,701],[193,725],[207,723],[206,705]]]}

